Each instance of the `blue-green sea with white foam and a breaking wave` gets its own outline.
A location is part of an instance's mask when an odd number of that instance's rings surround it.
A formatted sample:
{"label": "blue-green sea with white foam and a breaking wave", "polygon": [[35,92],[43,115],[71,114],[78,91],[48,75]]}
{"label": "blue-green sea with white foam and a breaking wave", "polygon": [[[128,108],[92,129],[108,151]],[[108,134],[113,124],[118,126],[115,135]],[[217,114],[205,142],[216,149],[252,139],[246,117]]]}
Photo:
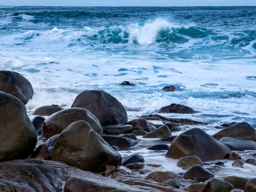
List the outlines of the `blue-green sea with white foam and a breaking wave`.
{"label": "blue-green sea with white foam and a breaking wave", "polygon": [[[40,106],[69,108],[83,90],[104,90],[129,120],[176,103],[197,113],[164,116],[206,122],[208,134],[226,122],[255,128],[256,7],[2,6],[0,70],[31,82],[31,118]],[[171,85],[182,90],[162,90]],[[136,150],[173,169],[163,153]]]}

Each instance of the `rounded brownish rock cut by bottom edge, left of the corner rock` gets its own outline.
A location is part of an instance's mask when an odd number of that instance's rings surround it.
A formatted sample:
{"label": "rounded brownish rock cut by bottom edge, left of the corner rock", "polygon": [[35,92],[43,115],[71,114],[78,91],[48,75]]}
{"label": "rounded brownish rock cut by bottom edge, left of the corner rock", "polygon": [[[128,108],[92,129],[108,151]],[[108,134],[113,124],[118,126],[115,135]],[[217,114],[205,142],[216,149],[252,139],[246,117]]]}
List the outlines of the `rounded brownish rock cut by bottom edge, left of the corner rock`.
{"label": "rounded brownish rock cut by bottom edge, left of the corner rock", "polygon": [[213,178],[208,181],[205,192],[230,192],[232,189],[234,186],[231,183]]}

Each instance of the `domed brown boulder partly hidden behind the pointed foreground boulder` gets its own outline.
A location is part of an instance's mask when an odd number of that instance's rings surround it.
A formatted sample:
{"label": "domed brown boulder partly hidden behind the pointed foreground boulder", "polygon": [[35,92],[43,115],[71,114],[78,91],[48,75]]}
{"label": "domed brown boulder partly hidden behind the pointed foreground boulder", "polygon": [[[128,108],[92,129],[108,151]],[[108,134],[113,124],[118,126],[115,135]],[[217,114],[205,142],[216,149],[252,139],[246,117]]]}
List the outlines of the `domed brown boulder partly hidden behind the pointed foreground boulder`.
{"label": "domed brown boulder partly hidden behind the pointed foreground boulder", "polygon": [[51,136],[60,134],[71,123],[79,120],[88,122],[95,132],[99,134],[103,133],[99,120],[97,120],[91,112],[83,108],[70,108],[67,110],[61,110],[49,116],[49,118],[43,122],[41,136],[44,138],[51,138]]}

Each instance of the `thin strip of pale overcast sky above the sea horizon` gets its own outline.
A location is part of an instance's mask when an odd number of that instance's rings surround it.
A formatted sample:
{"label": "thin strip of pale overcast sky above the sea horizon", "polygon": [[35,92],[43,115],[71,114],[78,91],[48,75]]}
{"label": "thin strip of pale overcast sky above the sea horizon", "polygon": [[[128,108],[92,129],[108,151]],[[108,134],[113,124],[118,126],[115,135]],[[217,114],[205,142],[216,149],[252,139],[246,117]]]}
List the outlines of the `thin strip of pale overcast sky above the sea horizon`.
{"label": "thin strip of pale overcast sky above the sea horizon", "polygon": [[43,6],[235,6],[256,0],[0,0],[0,5]]}

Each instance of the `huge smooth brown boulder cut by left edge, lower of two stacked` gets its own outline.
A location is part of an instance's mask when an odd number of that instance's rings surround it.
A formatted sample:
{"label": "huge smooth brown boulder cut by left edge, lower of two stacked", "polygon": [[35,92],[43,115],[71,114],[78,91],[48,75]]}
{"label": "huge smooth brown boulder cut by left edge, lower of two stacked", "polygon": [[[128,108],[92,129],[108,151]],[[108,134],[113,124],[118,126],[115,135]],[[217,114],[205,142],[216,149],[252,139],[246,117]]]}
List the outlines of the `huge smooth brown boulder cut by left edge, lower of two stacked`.
{"label": "huge smooth brown boulder cut by left edge, lower of two stacked", "polygon": [[23,102],[0,92],[0,161],[27,158],[36,144],[37,134]]}

